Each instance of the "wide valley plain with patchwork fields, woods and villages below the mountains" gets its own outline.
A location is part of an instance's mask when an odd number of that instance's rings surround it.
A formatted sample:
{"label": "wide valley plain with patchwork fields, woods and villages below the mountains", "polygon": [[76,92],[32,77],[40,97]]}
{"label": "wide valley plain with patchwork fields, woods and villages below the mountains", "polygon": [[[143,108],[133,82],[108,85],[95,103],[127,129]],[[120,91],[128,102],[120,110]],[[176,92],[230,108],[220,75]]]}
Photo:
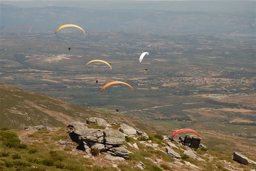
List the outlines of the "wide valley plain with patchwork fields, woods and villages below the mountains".
{"label": "wide valley plain with patchwork fields, woods and villages below the mountains", "polygon": [[[248,39],[122,32],[26,32],[1,38],[4,83],[78,106],[111,113],[119,108],[118,115],[172,128],[224,131],[226,126],[242,126],[235,122],[256,122],[255,42]],[[221,55],[223,51],[229,54]],[[139,64],[142,52],[149,55]],[[107,61],[112,70],[100,62],[85,67],[94,59]],[[100,92],[112,81],[126,82],[134,92],[126,85]],[[246,126],[248,131],[231,132],[255,136],[255,126]]]}

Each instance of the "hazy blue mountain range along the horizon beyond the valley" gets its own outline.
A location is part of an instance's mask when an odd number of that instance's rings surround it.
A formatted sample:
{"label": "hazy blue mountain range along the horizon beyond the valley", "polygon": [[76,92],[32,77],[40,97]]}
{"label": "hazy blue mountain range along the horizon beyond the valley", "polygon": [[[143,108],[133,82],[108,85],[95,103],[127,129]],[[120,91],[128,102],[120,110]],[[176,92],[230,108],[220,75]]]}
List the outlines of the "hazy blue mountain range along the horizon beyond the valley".
{"label": "hazy blue mountain range along the horizon beyond the valley", "polygon": [[[64,24],[76,24],[86,31],[101,30],[165,35],[215,35],[234,32],[255,34],[255,10],[244,11],[244,8],[243,6],[241,11],[234,12],[203,12],[167,11],[157,8],[157,10],[147,8],[91,10],[67,6],[20,8],[1,4],[0,29],[3,33],[8,32],[9,29],[4,29],[8,26],[28,25],[44,30],[53,30]],[[40,32],[38,29],[36,30]]]}

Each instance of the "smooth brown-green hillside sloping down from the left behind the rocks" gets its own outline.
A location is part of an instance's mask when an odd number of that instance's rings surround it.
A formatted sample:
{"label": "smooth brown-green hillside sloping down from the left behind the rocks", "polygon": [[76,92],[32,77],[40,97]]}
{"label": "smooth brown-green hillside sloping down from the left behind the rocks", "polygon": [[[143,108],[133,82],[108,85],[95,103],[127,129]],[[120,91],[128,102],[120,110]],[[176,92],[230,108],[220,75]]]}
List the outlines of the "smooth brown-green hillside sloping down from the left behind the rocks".
{"label": "smooth brown-green hillside sloping down from the left behind the rocks", "polygon": [[0,127],[10,129],[23,129],[35,125],[62,127],[74,121],[86,122],[86,118],[99,117],[109,123],[123,122],[148,131],[154,130],[164,134],[170,131],[138,119],[71,105],[50,95],[23,90],[5,83],[0,83],[0,92]]}

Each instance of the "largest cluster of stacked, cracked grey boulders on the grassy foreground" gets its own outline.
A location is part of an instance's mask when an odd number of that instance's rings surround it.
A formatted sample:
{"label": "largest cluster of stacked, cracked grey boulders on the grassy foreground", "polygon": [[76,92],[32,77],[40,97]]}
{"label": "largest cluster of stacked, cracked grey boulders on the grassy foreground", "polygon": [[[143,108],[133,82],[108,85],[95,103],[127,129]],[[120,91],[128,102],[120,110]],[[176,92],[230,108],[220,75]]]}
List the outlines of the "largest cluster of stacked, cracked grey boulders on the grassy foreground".
{"label": "largest cluster of stacked, cracked grey boulders on the grassy foreground", "polygon": [[[100,121],[101,124],[105,124],[99,118],[90,118],[90,122]],[[70,138],[78,143],[77,149],[83,150],[85,152],[90,152],[90,149],[97,148],[101,152],[107,152],[112,155],[123,157],[127,159],[129,152],[125,147],[119,147],[125,143],[124,134],[118,130],[109,129],[92,129],[87,128],[87,125],[83,123],[71,123],[68,127],[75,128],[76,130],[69,130]],[[78,128],[80,128],[78,130]]]}

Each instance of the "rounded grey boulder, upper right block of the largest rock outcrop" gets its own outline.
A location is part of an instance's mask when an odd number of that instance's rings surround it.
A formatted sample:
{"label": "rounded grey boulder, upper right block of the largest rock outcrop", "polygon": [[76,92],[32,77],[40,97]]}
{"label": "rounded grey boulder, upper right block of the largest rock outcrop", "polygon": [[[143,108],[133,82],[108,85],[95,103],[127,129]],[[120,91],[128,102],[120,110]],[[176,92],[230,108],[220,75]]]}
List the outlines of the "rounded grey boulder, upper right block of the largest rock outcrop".
{"label": "rounded grey boulder, upper right block of the largest rock outcrop", "polygon": [[105,129],[104,134],[104,144],[106,145],[121,145],[125,143],[124,134],[118,130]]}

